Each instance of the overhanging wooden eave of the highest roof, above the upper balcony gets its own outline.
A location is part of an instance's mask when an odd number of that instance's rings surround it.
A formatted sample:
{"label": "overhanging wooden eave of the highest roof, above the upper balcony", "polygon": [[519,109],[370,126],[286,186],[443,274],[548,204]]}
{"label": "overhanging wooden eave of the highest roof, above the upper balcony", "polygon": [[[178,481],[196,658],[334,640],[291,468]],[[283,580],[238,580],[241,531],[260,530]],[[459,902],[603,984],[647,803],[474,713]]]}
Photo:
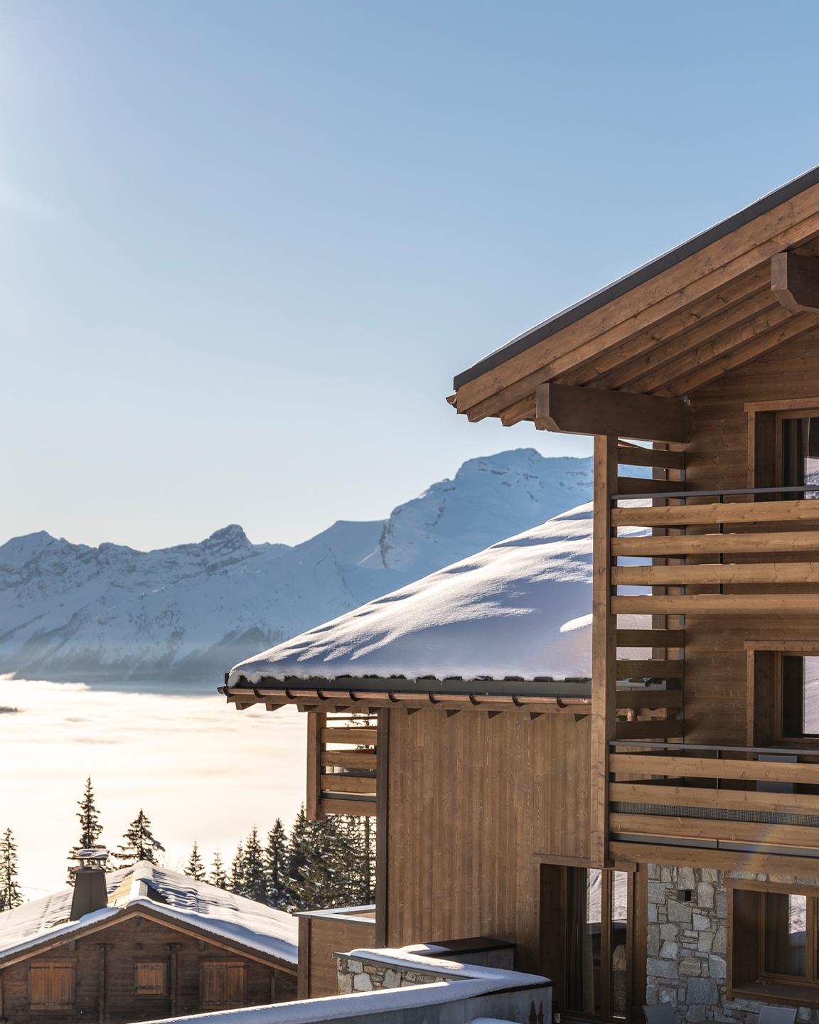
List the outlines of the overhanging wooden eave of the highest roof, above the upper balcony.
{"label": "overhanging wooden eave of the highest roof, above the upper balcony", "polygon": [[550,429],[541,385],[689,394],[817,330],[819,310],[772,281],[785,252],[819,256],[819,169],[499,349],[448,400],[471,421]]}

